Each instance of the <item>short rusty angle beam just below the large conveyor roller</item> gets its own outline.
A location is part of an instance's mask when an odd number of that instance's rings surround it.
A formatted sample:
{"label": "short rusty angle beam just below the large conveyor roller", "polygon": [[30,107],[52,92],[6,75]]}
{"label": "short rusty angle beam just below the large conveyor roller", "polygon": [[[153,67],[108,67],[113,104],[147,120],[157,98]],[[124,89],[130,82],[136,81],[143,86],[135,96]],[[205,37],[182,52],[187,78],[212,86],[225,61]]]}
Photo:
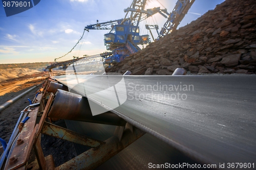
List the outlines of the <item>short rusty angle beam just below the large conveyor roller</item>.
{"label": "short rusty angle beam just below the large conveyor roller", "polygon": [[87,145],[92,148],[96,148],[101,144],[104,144],[103,141],[93,139],[91,137],[81,135],[79,133],[73,132],[71,130],[50,124],[45,122],[42,127],[41,133],[57,137],[60,139],[68,140],[82,145]]}

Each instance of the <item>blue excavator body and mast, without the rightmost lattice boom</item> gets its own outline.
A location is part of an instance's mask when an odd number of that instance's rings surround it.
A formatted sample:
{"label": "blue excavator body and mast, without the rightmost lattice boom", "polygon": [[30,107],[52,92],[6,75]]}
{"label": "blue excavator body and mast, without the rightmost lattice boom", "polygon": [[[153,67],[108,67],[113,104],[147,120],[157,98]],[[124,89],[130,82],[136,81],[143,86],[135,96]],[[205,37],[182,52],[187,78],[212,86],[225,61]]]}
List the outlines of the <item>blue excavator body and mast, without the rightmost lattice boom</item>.
{"label": "blue excavator body and mast, without the rightmost lattice boom", "polygon": [[[109,64],[112,62],[120,62],[125,57],[138,52],[139,44],[150,43],[149,35],[140,35],[139,22],[156,13],[160,13],[167,18],[166,9],[162,10],[160,7],[144,10],[146,0],[134,0],[129,8],[124,12],[126,15],[124,19],[117,19],[114,21],[97,23],[89,25],[84,29],[89,30],[111,30],[104,35],[104,44],[106,50],[112,51],[112,55],[102,57],[102,60]],[[165,14],[164,14],[165,13]]]}

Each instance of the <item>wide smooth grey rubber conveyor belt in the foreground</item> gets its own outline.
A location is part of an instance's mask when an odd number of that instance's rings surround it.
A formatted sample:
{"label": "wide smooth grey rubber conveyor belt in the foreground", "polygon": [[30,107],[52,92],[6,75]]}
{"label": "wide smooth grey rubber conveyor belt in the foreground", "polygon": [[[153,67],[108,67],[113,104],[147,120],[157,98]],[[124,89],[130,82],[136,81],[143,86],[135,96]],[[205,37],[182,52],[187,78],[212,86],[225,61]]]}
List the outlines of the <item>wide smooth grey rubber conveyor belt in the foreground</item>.
{"label": "wide smooth grey rubber conveyor belt in the foreground", "polygon": [[[101,76],[77,78],[55,77],[83,95],[84,84],[90,94],[120,81],[117,76],[110,84]],[[113,112],[127,122],[203,162],[256,163],[256,76],[124,76],[124,81],[130,95]],[[136,100],[136,95],[141,99]],[[99,103],[100,97],[95,98]]]}

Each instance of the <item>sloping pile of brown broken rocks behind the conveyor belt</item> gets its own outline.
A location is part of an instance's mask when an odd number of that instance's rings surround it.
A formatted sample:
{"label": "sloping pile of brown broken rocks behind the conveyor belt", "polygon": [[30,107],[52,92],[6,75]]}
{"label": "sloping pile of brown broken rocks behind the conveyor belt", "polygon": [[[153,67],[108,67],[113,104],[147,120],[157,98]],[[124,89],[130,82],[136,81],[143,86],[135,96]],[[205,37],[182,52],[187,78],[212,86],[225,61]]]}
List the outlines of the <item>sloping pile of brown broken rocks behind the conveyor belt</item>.
{"label": "sloping pile of brown broken rocks behind the conveyor belt", "polygon": [[255,0],[226,0],[106,71],[172,75],[181,67],[191,73],[255,74],[255,24]]}

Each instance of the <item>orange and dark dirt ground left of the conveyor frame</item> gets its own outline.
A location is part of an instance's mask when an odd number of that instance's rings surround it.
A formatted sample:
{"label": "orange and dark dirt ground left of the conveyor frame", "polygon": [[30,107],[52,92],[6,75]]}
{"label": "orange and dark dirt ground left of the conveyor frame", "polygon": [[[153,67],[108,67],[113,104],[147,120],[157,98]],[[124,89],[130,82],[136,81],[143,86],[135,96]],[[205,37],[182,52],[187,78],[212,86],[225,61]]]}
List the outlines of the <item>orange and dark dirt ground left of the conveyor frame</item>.
{"label": "orange and dark dirt ground left of the conveyor frame", "polygon": [[[40,72],[31,76],[24,76],[0,82],[0,105],[31,87],[42,83],[47,76],[47,72]],[[0,137],[5,141],[9,140],[20,115],[20,111],[29,105],[28,98],[32,100],[36,90],[38,89],[34,89],[27,93],[23,98],[0,112]]]}

